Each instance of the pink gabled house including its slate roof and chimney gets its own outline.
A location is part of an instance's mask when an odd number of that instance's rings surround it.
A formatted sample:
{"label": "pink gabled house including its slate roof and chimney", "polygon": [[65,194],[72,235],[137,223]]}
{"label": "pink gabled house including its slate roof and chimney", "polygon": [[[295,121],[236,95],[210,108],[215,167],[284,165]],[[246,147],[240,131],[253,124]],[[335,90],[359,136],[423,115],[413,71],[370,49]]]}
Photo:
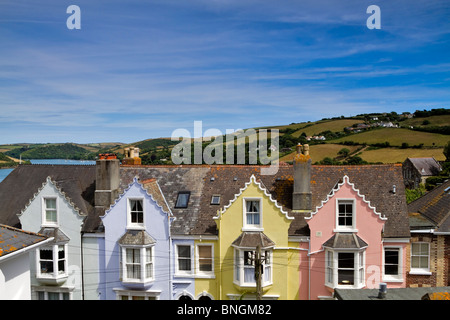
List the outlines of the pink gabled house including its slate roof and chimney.
{"label": "pink gabled house including its slate roof and chimney", "polygon": [[[396,177],[401,183],[401,167],[311,170],[308,157],[300,154],[294,163],[293,211],[303,213],[309,229],[300,242],[299,299],[331,298],[335,288],[406,287],[404,190],[392,183]],[[298,205],[296,194],[310,200]]]}

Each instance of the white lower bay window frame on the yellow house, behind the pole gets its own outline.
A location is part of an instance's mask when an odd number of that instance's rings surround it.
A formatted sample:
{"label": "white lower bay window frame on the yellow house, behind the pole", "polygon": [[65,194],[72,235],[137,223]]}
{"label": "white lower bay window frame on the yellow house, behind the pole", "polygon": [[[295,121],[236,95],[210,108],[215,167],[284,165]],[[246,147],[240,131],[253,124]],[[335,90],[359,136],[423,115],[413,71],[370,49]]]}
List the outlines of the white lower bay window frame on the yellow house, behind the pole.
{"label": "white lower bay window frame on the yellow house, behind the pole", "polygon": [[[245,280],[245,269],[253,270],[254,274],[254,263],[252,266],[249,266],[245,263],[245,252],[252,251],[253,255],[255,253],[255,248],[234,248],[234,266],[233,266],[233,283],[240,287],[247,288],[256,288],[256,281],[254,277],[252,277],[252,281]],[[261,249],[261,254],[269,255],[269,263],[263,262],[264,272],[261,275],[261,286],[266,287],[273,284],[273,249],[272,248],[264,248]]]}

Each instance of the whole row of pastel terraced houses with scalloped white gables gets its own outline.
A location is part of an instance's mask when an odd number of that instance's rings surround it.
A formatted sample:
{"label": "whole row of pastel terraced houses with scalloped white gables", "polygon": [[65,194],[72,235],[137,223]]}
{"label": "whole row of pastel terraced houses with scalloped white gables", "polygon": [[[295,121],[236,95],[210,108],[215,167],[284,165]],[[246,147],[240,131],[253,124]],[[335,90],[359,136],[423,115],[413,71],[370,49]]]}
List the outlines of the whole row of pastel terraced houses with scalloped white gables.
{"label": "whole row of pastel terraced houses with scalloped white gables", "polygon": [[315,300],[433,273],[425,242],[411,253],[401,165],[312,166],[298,146],[261,168],[21,165],[1,223],[51,239],[31,255],[32,299]]}

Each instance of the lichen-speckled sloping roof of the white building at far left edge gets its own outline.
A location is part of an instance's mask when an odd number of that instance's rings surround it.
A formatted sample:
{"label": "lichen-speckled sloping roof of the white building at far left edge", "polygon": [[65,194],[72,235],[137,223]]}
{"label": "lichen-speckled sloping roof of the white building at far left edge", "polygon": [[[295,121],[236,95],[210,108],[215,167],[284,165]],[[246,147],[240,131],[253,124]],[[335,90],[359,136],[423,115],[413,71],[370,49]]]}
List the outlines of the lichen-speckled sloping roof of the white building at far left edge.
{"label": "lichen-speckled sloping roof of the white building at far left edge", "polygon": [[46,239],[46,236],[38,233],[0,225],[0,257],[5,257]]}

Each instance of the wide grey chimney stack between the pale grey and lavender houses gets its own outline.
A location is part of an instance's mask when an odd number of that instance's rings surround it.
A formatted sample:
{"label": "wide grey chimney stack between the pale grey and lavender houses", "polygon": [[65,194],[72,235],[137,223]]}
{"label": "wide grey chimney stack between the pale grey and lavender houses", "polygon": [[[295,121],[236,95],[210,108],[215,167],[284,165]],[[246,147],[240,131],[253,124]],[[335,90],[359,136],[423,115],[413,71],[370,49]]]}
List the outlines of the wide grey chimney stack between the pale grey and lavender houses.
{"label": "wide grey chimney stack between the pale grey and lavender houses", "polygon": [[100,154],[95,173],[95,210],[104,212],[119,195],[119,159],[115,154]]}

